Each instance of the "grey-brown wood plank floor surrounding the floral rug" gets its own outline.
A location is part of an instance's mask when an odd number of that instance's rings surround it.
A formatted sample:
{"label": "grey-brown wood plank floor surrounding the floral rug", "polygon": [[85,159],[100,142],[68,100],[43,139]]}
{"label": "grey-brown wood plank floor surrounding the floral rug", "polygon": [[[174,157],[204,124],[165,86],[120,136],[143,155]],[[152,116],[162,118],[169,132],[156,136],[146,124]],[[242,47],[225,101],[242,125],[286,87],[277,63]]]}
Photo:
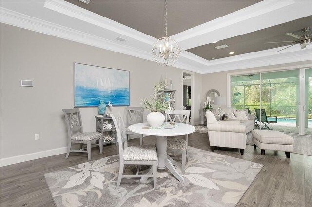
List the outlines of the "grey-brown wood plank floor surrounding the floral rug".
{"label": "grey-brown wood plank floor surrounding the floral rug", "polygon": [[[156,138],[144,138],[144,144],[154,144]],[[137,145],[138,139],[129,141]],[[189,135],[189,146],[211,151],[208,135],[197,133]],[[116,155],[115,144],[104,146],[104,152],[92,149],[92,160]],[[286,158],[284,152],[267,150],[262,156],[259,148],[247,145],[244,155],[238,149],[215,148],[215,153],[233,156],[264,164],[263,169],[246,191],[238,207],[249,206],[312,206],[312,157],[291,153]],[[43,174],[87,162],[86,153],[71,153],[45,157],[37,160],[0,168],[0,206],[1,207],[50,207],[54,206]],[[192,206],[192,205],[190,205]]]}

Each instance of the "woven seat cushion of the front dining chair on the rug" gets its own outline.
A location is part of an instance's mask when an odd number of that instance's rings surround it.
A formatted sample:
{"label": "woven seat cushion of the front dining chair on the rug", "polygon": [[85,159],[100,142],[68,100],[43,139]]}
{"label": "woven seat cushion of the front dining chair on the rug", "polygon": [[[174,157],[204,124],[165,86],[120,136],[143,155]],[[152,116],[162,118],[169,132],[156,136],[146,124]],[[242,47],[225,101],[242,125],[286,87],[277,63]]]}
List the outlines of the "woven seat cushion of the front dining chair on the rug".
{"label": "woven seat cushion of the front dining chair on the rug", "polygon": [[123,160],[153,161],[158,160],[156,147],[153,145],[131,146],[123,150]]}

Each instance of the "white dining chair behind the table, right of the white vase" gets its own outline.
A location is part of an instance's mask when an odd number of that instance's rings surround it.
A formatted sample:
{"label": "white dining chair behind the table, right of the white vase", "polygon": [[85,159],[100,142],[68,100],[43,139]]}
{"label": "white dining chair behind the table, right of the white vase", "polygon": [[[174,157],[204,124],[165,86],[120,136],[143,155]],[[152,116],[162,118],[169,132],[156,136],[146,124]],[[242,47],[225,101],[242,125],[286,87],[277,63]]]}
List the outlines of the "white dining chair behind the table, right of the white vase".
{"label": "white dining chair behind the table, right of the white vase", "polygon": [[[189,124],[191,110],[166,110],[166,120]],[[185,162],[189,161],[187,155],[188,135],[185,138],[167,138],[167,152],[178,152],[182,154],[182,173],[185,173]]]}

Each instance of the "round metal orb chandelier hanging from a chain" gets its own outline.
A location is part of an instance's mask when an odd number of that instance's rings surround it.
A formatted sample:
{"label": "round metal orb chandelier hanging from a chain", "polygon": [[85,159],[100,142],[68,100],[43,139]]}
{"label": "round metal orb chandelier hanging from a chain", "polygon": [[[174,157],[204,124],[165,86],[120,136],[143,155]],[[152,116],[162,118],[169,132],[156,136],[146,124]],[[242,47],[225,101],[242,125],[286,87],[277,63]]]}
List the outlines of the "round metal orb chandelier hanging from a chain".
{"label": "round metal orb chandelier hanging from a chain", "polygon": [[167,37],[167,0],[165,1],[165,11],[165,37],[154,43],[152,54],[159,65],[172,66],[179,58],[181,50],[175,40]]}

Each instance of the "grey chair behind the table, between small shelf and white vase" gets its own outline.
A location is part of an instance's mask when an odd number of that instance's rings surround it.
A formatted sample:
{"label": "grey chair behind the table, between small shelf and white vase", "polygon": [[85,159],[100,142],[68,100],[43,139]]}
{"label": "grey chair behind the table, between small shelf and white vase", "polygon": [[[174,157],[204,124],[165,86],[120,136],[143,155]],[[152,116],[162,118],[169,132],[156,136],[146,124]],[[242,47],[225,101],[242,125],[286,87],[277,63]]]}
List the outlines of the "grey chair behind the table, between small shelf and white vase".
{"label": "grey chair behind the table, between small shelf and white vase", "polygon": [[136,134],[128,129],[128,127],[132,124],[142,123],[143,122],[143,114],[144,108],[143,107],[127,107],[127,138],[139,138],[140,139],[140,146],[143,144],[143,135]]}

